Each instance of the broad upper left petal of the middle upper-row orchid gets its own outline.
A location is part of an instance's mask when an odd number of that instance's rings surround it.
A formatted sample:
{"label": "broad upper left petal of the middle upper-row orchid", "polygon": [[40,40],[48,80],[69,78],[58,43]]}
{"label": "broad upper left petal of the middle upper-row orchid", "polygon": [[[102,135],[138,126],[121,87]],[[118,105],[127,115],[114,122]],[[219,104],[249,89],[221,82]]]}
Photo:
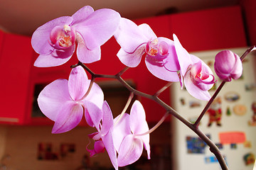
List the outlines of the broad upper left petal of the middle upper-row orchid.
{"label": "broad upper left petal of the middle upper-row orchid", "polygon": [[121,18],[119,27],[116,33],[114,33],[114,38],[122,50],[129,53],[134,52],[140,45],[149,41],[136,23],[127,18]]}

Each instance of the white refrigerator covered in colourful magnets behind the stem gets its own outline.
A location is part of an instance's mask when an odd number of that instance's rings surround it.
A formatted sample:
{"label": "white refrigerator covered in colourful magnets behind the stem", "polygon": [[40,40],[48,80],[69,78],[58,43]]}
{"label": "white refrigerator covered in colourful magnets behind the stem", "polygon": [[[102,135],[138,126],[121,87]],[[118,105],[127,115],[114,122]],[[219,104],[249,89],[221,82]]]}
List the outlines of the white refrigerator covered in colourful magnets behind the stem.
{"label": "white refrigerator covered in colourful magnets behind the stem", "polygon": [[[239,56],[247,47],[228,49]],[[220,50],[193,52],[214,72],[214,57]],[[251,52],[242,62],[242,77],[225,84],[213,101],[199,128],[210,137],[225,158],[230,170],[252,170],[256,157],[256,55]],[[210,89],[211,96],[220,79]],[[180,84],[171,85],[171,106],[194,123],[206,101],[193,98]],[[171,119],[172,169],[218,170],[218,160],[192,130],[176,118]],[[256,168],[255,168],[256,169]]]}

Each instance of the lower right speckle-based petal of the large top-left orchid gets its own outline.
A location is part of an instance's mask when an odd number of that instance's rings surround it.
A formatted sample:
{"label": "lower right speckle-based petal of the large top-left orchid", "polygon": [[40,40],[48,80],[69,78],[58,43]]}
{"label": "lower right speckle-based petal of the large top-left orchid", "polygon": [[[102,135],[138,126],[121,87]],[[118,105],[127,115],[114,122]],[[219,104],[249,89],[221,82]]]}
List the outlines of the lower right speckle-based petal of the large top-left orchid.
{"label": "lower right speckle-based petal of the large top-left orchid", "polygon": [[77,33],[77,40],[78,40],[78,49],[77,49],[77,55],[78,60],[83,63],[92,63],[100,60],[100,46],[95,47],[93,50],[89,50],[85,45],[85,40],[80,35],[80,33]]}

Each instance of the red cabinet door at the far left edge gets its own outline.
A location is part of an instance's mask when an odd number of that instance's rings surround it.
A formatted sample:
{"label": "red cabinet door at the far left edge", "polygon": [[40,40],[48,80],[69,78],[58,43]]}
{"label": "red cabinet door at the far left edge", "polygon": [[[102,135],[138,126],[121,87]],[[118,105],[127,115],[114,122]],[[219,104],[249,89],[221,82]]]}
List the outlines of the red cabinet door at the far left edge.
{"label": "red cabinet door at the far left edge", "polygon": [[24,123],[31,72],[31,38],[4,33],[0,54],[0,123]]}

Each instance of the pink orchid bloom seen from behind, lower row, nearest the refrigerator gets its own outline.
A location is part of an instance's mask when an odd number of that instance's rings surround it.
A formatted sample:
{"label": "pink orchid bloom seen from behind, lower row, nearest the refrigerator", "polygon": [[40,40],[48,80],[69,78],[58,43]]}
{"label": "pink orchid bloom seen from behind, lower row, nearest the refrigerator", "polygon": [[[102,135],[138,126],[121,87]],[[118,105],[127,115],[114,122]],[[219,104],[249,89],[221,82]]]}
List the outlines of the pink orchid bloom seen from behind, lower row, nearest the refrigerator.
{"label": "pink orchid bloom seen from behind, lower row, nearest the refrigerator", "polygon": [[[120,116],[120,115],[119,115]],[[142,104],[134,101],[130,115],[124,113],[119,119],[114,118],[113,139],[117,149],[118,166],[126,166],[136,162],[142,155],[143,145],[150,159],[149,126],[146,123],[146,115]]]}

